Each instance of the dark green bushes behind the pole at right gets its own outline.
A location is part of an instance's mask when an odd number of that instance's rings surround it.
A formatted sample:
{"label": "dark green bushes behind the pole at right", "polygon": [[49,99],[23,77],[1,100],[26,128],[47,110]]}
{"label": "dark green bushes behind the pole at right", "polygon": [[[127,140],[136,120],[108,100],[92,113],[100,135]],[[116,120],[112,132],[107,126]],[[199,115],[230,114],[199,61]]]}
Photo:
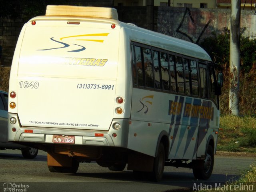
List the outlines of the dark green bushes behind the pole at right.
{"label": "dark green bushes behind the pole at right", "polygon": [[[223,34],[205,38],[200,46],[208,52],[214,62],[221,65],[224,72],[224,86],[220,96],[220,113],[230,114],[229,91],[229,50],[230,34],[224,28]],[[256,114],[256,39],[241,37],[240,39],[240,82],[239,82],[239,110],[240,115],[253,116]]]}

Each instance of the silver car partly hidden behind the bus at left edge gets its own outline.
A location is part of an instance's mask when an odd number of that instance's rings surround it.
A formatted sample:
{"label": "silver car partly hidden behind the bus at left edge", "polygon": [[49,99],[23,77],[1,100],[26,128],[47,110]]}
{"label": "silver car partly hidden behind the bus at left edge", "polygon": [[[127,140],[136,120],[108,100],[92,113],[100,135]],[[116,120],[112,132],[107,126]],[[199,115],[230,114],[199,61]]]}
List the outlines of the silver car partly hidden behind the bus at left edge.
{"label": "silver car partly hidden behind the bus at left edge", "polygon": [[38,149],[8,142],[7,134],[7,116],[8,116],[8,93],[0,91],[0,150],[19,149],[22,156],[28,159],[34,159],[37,156]]}

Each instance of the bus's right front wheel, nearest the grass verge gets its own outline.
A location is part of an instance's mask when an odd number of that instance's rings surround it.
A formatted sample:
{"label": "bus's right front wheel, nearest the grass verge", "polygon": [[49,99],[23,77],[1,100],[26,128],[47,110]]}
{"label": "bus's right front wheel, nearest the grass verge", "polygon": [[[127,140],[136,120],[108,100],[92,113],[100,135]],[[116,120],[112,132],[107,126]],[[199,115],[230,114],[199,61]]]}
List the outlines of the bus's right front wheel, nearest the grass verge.
{"label": "bus's right front wheel, nearest the grass verge", "polygon": [[212,146],[208,146],[205,160],[195,160],[195,168],[193,168],[194,177],[197,179],[210,178],[214,166],[214,151]]}

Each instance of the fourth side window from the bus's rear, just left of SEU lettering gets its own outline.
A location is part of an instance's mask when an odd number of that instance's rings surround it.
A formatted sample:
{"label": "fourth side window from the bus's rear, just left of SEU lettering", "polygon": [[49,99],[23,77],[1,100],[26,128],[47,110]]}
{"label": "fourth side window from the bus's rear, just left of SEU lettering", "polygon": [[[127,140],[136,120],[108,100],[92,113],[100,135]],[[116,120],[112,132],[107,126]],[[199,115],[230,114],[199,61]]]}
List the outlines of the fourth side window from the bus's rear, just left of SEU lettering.
{"label": "fourth side window from the bus's rear, just left of SEU lettering", "polygon": [[161,75],[163,90],[170,90],[169,67],[167,53],[160,52]]}

